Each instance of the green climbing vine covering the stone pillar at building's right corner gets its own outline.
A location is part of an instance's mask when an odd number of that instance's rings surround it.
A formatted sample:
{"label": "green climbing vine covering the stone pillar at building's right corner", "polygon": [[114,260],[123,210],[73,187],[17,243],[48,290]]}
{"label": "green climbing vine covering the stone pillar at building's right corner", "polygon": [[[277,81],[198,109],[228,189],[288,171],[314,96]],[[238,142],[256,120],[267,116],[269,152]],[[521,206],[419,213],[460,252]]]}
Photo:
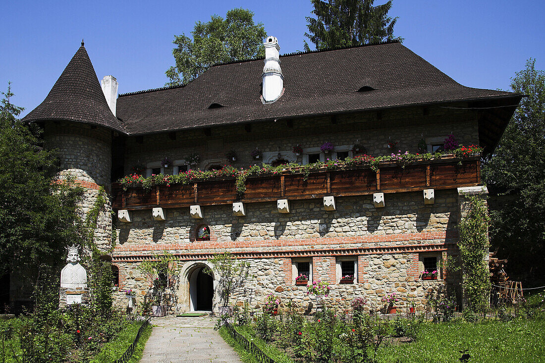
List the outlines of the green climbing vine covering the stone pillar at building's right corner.
{"label": "green climbing vine covering the stone pillar at building's right corner", "polygon": [[487,308],[490,294],[490,276],[485,261],[489,247],[489,216],[485,200],[478,196],[468,197],[463,204],[463,213],[465,216],[458,226],[462,287],[467,307],[480,312]]}

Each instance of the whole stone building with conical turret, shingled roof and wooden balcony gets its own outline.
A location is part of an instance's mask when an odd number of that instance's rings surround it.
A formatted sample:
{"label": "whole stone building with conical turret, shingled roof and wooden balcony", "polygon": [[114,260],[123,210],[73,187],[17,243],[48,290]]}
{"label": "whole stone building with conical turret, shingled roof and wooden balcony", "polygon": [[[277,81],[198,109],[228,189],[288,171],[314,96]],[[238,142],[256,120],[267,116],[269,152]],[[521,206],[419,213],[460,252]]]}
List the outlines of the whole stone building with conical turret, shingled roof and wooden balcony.
{"label": "whole stone building with conical turret, shingled roof and wooden balcony", "polygon": [[[435,152],[449,135],[491,153],[522,96],[464,87],[399,43],[284,56],[276,38],[264,44],[264,61],[219,64],[186,86],[117,96],[116,79],[99,84],[82,43],[25,117],[59,150],[60,177],[86,187],[83,208],[99,186],[111,197],[114,217],[101,216],[96,240],[110,246],[114,229],[117,304],[126,305],[125,288],[144,298],[151,285],[137,266],[161,251],[181,265],[177,312],[217,311],[217,281],[203,268],[223,251],[251,266],[231,304],[259,307],[274,293],[307,308],[306,286],[295,283],[301,273],[328,281],[326,303],[337,308],[355,296],[380,306],[396,292],[405,307],[439,286],[456,292],[441,265],[457,253],[464,193],[486,193],[478,155],[263,173],[248,176],[244,192],[233,176],[146,189],[117,183],[135,172]],[[423,280],[426,269],[437,269],[437,279]]]}

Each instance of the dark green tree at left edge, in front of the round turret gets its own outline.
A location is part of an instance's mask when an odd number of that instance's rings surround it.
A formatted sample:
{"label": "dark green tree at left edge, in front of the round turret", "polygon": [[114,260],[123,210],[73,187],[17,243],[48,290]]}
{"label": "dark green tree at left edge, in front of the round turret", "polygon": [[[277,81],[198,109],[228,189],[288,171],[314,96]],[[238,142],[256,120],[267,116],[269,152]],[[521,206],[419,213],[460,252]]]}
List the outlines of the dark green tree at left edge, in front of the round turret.
{"label": "dark green tree at left edge, in front of the round turret", "polygon": [[54,183],[57,160],[41,147],[35,125],[17,120],[23,110],[9,99],[0,106],[0,274],[17,265],[62,261],[65,247],[82,238],[76,205],[81,187]]}

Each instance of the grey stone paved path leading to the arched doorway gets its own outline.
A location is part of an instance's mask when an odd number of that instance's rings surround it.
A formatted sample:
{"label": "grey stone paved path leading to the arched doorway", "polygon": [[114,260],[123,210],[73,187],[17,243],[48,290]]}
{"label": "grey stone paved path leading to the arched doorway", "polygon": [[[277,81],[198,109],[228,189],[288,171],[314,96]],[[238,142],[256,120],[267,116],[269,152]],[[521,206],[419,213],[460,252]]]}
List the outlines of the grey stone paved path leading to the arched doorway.
{"label": "grey stone paved path leading to the arched doorway", "polygon": [[215,317],[153,318],[153,331],[140,363],[240,363],[238,354],[214,330]]}

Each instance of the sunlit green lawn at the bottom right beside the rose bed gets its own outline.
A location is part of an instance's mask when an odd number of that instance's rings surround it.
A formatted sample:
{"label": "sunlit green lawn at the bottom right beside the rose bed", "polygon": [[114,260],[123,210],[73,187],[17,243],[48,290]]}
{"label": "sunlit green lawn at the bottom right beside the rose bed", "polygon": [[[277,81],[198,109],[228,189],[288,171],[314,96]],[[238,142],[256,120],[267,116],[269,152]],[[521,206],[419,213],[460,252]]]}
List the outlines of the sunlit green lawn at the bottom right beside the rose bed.
{"label": "sunlit green lawn at the bottom right beside the rose bed", "polygon": [[412,343],[380,349],[379,362],[545,362],[545,320],[422,324]]}

